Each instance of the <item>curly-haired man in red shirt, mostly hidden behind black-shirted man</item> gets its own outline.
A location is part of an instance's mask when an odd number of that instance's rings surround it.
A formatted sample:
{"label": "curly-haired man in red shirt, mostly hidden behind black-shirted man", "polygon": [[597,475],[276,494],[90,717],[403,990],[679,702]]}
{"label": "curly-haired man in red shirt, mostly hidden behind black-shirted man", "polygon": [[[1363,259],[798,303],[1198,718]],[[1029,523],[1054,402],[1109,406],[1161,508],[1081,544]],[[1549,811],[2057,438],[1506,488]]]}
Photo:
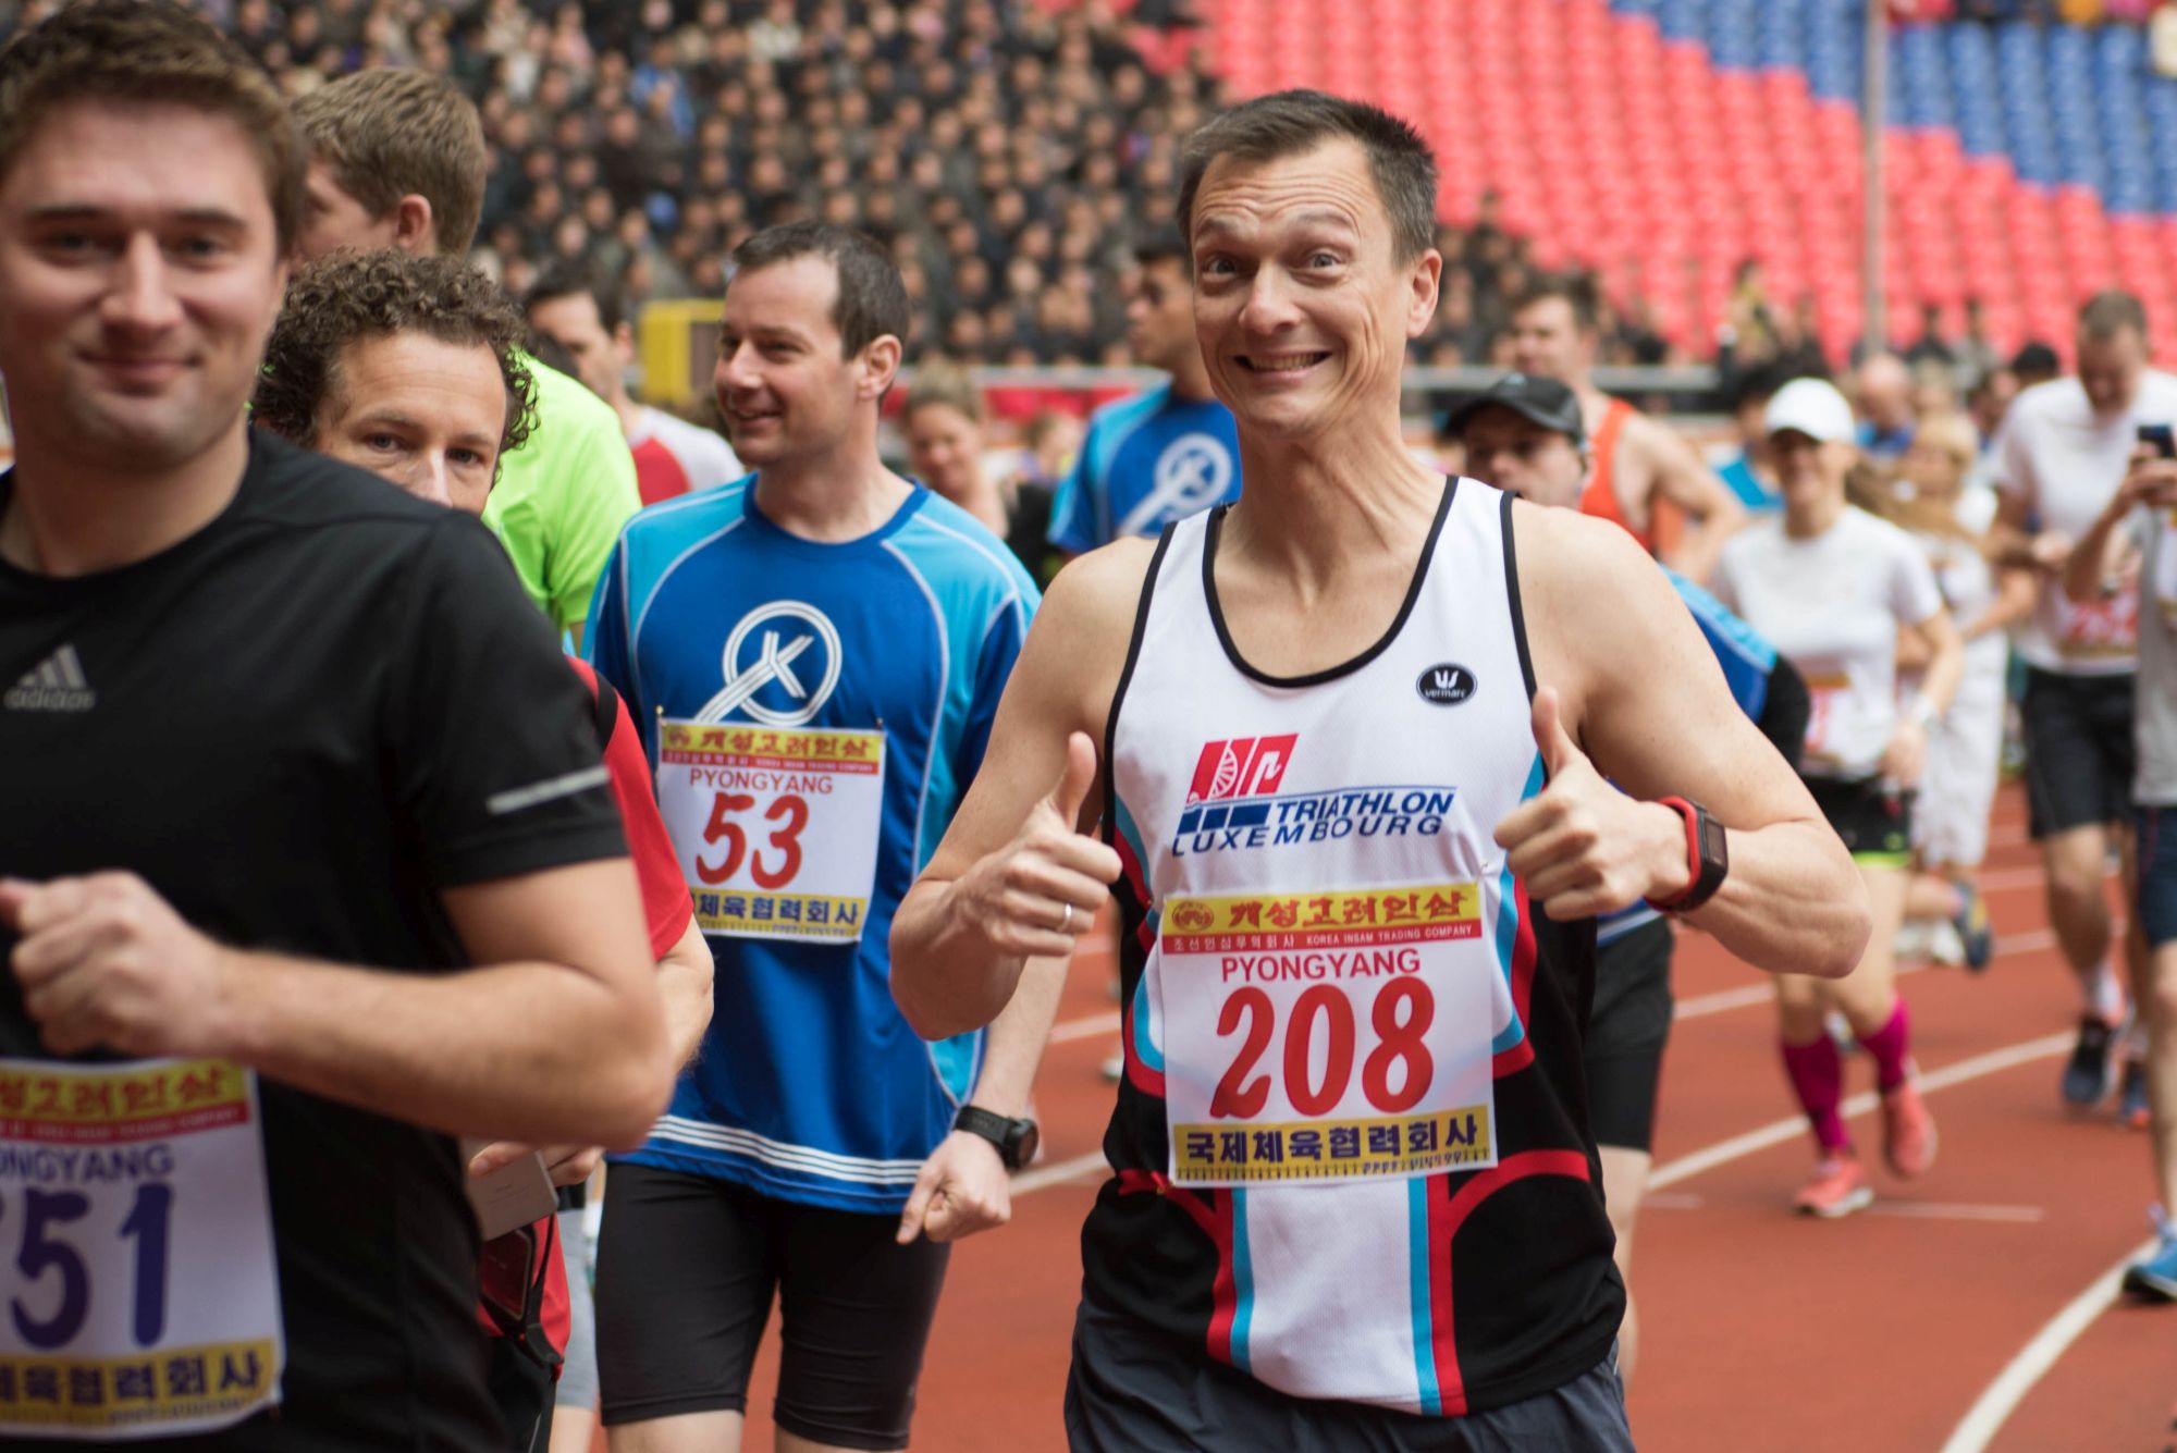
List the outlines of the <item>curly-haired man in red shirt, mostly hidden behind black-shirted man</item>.
{"label": "curly-haired man in red shirt, mostly hidden behind black-shirted man", "polygon": [[[459,259],[398,250],[340,254],[303,272],[287,291],[266,346],[255,420],[418,498],[483,513],[501,455],[529,435],[533,385],[516,352],[520,335],[514,302]],[[710,948],[657,816],[649,761],[638,735],[625,729],[627,711],[588,666],[570,666],[599,696],[605,768],[642,887],[666,1033],[675,1064],[684,1064],[710,1022]],[[494,1144],[470,1168],[485,1175],[527,1153],[529,1146]],[[596,1146],[549,1146],[542,1155],[557,1185],[581,1185],[599,1162]],[[568,1246],[579,1244],[579,1205],[562,1216],[559,1238]],[[594,1353],[583,1364],[579,1336],[588,1279],[579,1264],[577,1275],[559,1277],[562,1266],[546,1262],[546,1301],[557,1290],[573,1305],[577,1338],[566,1349],[564,1377],[581,1379],[588,1366],[594,1388]],[[564,1331],[557,1340],[566,1342]],[[514,1446],[544,1446],[546,1423],[538,1414],[549,1401],[542,1377],[529,1396],[503,1396],[509,1425],[520,1425]],[[568,1420],[562,1412],[562,1436]]]}

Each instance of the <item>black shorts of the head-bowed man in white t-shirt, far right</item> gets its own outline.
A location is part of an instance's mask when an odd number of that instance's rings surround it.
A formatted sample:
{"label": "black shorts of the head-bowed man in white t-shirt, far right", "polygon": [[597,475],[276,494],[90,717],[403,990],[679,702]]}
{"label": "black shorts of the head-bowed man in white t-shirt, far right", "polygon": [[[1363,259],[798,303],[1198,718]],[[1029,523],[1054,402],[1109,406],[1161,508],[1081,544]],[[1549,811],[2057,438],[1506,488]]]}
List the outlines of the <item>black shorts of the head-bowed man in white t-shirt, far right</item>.
{"label": "black shorts of the head-bowed man in white t-shirt, far right", "polygon": [[2131,681],[2027,668],[2018,720],[2033,837],[2131,820]]}

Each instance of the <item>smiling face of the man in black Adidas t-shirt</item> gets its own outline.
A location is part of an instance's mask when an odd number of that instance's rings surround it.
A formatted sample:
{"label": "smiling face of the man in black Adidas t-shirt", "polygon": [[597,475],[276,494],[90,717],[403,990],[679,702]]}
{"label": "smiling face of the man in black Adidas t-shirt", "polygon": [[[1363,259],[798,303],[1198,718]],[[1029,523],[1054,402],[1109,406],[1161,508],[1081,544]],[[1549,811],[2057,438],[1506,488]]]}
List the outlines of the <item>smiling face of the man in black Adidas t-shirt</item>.
{"label": "smiling face of the man in black Adidas t-shirt", "polygon": [[54,109],[0,183],[0,374],[20,444],[146,479],[196,459],[239,426],[285,283],[235,122]]}

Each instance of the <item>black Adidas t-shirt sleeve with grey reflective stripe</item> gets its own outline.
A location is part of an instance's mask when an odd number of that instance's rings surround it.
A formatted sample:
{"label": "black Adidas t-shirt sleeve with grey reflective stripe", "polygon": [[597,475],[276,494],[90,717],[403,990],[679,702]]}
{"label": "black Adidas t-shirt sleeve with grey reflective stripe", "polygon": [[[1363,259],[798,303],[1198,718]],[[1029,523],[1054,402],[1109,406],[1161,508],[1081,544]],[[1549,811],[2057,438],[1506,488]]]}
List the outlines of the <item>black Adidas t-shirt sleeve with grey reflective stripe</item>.
{"label": "black Adidas t-shirt sleeve with grey reflective stripe", "polygon": [[388,774],[433,887],[627,853],[596,709],[490,531],[425,531],[385,650]]}

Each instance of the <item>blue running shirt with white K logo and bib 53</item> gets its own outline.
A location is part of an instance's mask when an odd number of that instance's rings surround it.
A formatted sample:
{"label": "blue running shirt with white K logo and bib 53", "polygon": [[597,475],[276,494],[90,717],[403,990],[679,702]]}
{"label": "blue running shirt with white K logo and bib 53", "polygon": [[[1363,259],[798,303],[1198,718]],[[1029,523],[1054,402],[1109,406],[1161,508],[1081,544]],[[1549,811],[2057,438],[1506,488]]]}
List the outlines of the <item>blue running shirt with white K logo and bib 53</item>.
{"label": "blue running shirt with white K logo and bib 53", "polygon": [[718,964],[703,1051],[625,1159],[890,1214],[982,1061],[980,1033],[927,1044],[893,1005],[893,911],[982,763],[1036,587],[927,489],[816,544],[751,485],[638,513],[590,609]]}

